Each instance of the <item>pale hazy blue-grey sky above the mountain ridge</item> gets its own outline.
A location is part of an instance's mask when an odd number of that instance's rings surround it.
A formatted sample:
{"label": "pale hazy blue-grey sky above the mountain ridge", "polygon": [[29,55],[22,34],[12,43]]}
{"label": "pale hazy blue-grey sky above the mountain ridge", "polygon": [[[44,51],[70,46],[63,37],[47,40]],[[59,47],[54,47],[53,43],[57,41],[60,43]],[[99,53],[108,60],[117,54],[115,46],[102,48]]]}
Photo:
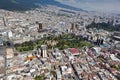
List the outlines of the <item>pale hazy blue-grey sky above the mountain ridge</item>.
{"label": "pale hazy blue-grey sky above the mountain ridge", "polygon": [[56,0],[88,11],[120,13],[120,0]]}

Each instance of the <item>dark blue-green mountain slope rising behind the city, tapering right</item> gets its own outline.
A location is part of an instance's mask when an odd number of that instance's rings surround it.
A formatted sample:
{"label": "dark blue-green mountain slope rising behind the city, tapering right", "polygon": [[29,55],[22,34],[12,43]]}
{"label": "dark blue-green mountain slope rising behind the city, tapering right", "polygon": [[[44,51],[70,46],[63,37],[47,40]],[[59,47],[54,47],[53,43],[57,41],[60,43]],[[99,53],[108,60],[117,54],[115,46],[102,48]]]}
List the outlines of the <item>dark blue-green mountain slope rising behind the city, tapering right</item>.
{"label": "dark blue-green mountain slope rising behind the city, tapering right", "polygon": [[41,6],[57,6],[61,8],[67,8],[77,11],[84,11],[80,8],[75,8],[70,5],[62,4],[56,0],[0,0],[0,9],[5,10],[30,10],[34,8],[38,8]]}

